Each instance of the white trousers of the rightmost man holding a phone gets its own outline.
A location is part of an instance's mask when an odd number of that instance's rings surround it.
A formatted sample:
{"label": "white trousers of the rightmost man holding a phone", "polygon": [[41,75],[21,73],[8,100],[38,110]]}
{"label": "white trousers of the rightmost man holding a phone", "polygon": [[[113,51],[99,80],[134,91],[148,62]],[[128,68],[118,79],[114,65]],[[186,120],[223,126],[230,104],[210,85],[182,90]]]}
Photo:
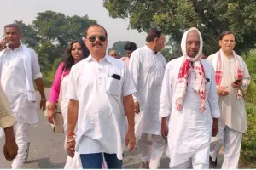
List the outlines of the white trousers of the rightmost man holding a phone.
{"label": "white trousers of the rightmost man holding a phone", "polygon": [[212,138],[211,143],[210,156],[212,157],[212,161],[216,160],[219,150],[224,144],[224,162],[222,168],[237,169],[241,150],[241,137],[241,132],[230,129],[230,127],[218,127],[217,138]]}

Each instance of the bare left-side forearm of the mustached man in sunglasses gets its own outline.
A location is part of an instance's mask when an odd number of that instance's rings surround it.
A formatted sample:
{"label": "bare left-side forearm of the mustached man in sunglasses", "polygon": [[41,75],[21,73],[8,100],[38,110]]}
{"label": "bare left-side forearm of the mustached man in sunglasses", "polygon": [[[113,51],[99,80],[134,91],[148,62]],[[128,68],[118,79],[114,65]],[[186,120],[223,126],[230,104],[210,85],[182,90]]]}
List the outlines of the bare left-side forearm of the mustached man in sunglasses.
{"label": "bare left-side forearm of the mustached man in sunglasses", "polygon": [[67,132],[72,133],[76,128],[79,116],[79,101],[70,99],[67,110]]}

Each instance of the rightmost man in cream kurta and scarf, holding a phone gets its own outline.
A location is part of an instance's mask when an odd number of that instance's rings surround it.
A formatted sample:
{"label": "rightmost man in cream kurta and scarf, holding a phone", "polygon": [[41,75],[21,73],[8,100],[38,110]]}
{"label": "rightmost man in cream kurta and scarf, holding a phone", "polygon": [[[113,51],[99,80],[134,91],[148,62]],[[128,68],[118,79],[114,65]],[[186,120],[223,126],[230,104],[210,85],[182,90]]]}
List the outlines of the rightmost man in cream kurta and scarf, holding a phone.
{"label": "rightmost man in cream kurta and scarf, holding a phone", "polygon": [[[222,168],[234,169],[238,168],[242,133],[247,130],[247,114],[241,92],[247,90],[250,75],[244,60],[233,51],[235,36],[231,31],[224,31],[219,38],[219,45],[221,49],[207,58],[217,73],[216,77],[221,76],[217,81],[221,117],[218,122],[218,135],[212,138],[210,161],[217,164],[218,152],[224,144]],[[239,70],[241,75],[238,77]],[[241,81],[234,84],[238,79]],[[211,165],[215,167],[214,163]]]}

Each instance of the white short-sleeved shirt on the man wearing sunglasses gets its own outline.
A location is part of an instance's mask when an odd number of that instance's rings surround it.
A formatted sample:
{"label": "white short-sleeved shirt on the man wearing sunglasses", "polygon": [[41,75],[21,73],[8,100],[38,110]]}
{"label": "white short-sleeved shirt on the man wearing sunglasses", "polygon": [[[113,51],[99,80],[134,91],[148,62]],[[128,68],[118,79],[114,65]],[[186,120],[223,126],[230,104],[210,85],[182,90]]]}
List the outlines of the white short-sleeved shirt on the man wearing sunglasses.
{"label": "white short-sleeved shirt on the man wearing sunglasses", "polygon": [[[113,78],[119,75],[120,80]],[[67,98],[79,100],[76,150],[79,154],[105,152],[123,159],[125,109],[123,97],[136,89],[125,63],[109,57],[97,62],[91,56],[73,65]]]}

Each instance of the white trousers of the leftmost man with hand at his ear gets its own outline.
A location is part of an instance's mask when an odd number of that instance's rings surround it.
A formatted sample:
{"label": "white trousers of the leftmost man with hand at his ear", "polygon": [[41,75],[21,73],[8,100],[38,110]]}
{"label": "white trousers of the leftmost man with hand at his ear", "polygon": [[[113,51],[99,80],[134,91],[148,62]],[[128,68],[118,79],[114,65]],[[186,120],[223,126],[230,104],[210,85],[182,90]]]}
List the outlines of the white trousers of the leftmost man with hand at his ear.
{"label": "white trousers of the leftmost man with hand at his ear", "polygon": [[24,164],[26,157],[26,150],[28,149],[28,133],[31,125],[23,122],[15,122],[15,141],[18,145],[18,154],[12,163],[13,169],[20,169]]}

